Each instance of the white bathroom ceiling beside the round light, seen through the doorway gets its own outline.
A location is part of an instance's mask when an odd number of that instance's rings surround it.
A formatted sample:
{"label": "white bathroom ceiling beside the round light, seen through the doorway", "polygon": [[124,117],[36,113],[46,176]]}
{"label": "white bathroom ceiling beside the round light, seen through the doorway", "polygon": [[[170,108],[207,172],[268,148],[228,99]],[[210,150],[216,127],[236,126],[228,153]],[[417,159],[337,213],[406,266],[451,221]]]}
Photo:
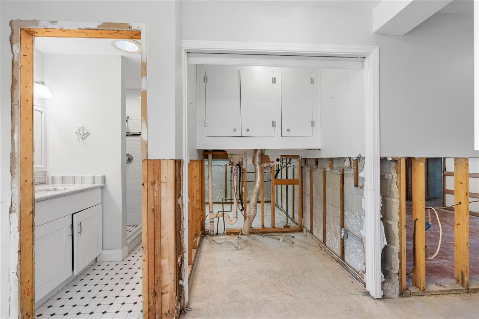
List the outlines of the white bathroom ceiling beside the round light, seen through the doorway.
{"label": "white bathroom ceiling beside the round light, seen through the doorway", "polygon": [[37,37],[34,46],[35,49],[45,54],[123,56],[125,59],[126,89],[139,90],[141,88],[141,55],[115,49],[110,45],[110,39]]}

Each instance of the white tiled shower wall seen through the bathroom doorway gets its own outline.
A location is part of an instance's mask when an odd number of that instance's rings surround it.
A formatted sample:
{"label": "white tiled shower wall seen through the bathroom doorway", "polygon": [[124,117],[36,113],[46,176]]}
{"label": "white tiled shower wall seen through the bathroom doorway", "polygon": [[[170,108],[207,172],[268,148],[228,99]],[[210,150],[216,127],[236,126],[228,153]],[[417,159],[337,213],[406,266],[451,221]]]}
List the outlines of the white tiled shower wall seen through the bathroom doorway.
{"label": "white tiled shower wall seen through the bathroom doorway", "polygon": [[[130,132],[141,131],[140,91],[126,90],[126,115],[130,116]],[[126,164],[126,225],[141,225],[141,140],[140,137],[126,137],[126,153],[133,155],[133,161]]]}

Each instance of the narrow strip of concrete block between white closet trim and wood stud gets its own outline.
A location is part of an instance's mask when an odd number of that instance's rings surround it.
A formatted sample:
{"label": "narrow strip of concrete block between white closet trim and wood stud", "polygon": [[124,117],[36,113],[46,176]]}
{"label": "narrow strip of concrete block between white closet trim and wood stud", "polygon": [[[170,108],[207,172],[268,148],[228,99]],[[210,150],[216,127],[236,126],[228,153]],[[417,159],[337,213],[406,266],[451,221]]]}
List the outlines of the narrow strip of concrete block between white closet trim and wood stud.
{"label": "narrow strip of concrete block between white closet trim and wood stud", "polygon": [[387,245],[381,254],[384,297],[399,296],[399,189],[396,160],[381,159],[381,221]]}

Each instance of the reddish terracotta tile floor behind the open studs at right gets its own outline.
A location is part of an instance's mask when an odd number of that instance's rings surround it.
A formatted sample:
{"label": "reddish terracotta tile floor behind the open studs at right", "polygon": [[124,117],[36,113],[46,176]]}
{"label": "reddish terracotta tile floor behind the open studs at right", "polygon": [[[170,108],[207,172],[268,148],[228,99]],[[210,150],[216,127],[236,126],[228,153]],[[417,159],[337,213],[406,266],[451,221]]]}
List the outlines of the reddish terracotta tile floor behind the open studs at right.
{"label": "reddish terracotta tile floor behind the open studs at right", "polygon": [[[426,207],[441,207],[441,201],[426,201]],[[454,283],[454,212],[438,210],[443,229],[441,250],[432,259],[426,259],[426,285]],[[429,220],[426,209],[426,221]],[[439,241],[436,214],[431,210],[431,228],[426,231],[426,246],[432,256]],[[417,224],[416,224],[417,225]],[[406,267],[412,268],[412,202],[406,202]],[[479,217],[469,217],[469,281],[479,281]],[[407,276],[412,285],[412,274]]]}

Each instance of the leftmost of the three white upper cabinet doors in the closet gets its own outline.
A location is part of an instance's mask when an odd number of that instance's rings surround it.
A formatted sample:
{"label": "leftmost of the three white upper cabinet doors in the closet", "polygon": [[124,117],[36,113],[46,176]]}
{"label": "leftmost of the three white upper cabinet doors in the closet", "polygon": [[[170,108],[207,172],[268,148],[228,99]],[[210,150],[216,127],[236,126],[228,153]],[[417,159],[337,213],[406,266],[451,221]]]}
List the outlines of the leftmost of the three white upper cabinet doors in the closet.
{"label": "leftmost of the three white upper cabinet doors in the closet", "polygon": [[206,70],[206,136],[241,136],[239,70]]}

